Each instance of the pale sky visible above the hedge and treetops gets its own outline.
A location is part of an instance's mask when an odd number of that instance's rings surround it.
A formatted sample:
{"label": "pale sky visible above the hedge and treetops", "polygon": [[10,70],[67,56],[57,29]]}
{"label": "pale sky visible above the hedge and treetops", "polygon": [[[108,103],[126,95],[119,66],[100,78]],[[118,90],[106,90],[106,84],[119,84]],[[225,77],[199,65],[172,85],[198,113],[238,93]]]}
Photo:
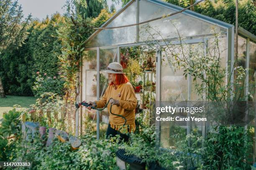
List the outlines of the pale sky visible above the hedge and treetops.
{"label": "pale sky visible above the hedge and treetops", "polygon": [[[18,3],[23,8],[23,14],[26,18],[30,13],[33,18],[42,20],[46,18],[46,15],[51,16],[58,11],[60,14],[66,12],[66,9],[62,9],[66,0],[18,0]],[[113,3],[111,0],[107,0],[108,6]],[[115,5],[116,10],[121,9],[121,4]]]}

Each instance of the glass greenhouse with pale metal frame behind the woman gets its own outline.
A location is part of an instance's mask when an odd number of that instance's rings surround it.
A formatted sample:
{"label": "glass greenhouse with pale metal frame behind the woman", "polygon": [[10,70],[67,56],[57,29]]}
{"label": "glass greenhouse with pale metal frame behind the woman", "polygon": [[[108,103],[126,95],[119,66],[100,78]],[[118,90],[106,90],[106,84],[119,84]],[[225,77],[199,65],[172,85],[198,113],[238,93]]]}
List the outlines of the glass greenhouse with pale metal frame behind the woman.
{"label": "glass greenhouse with pale metal frame behind the woman", "polygon": [[[150,118],[154,117],[154,108],[161,105],[161,101],[204,99],[196,92],[198,85],[194,77],[184,75],[186,68],[175,67],[179,63],[175,59],[176,62],[170,62],[170,58],[186,57],[190,54],[205,56],[210,51],[215,53],[214,46],[218,45],[220,67],[225,71],[223,83],[233,83],[237,78],[233,74],[233,63],[236,61],[234,26],[191,10],[164,17],[182,9],[160,0],[131,0],[101,26],[103,29],[96,30],[88,38],[82,58],[83,65],[80,68],[80,101],[94,101],[100,99],[108,86],[107,74],[103,71],[110,62],[120,62],[135,87],[138,100],[136,117],[143,113],[144,121],[156,125],[157,138],[162,148],[173,146],[172,135],[177,130],[187,135],[197,127],[197,132],[203,137],[206,134],[206,125],[203,122],[187,122],[180,129],[175,129],[170,122],[159,122]],[[158,17],[163,18],[141,24]],[[123,25],[133,26],[120,27]],[[250,93],[255,98],[256,36],[243,28],[238,30],[237,61],[238,66],[246,70],[243,96]],[[231,88],[235,87],[231,85]],[[103,138],[108,126],[108,114],[107,110],[90,111],[80,108],[76,115],[77,135],[82,133],[82,115],[89,115],[95,122],[97,139]],[[255,139],[256,133],[253,134]]]}

